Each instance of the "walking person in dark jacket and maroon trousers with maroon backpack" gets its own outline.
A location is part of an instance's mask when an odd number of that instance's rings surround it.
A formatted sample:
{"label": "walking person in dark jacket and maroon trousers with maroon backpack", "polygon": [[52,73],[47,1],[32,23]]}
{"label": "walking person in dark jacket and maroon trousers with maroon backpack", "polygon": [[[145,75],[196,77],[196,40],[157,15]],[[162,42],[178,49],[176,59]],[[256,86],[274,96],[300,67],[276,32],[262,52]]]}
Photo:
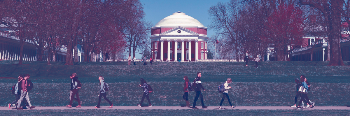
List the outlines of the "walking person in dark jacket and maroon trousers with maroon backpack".
{"label": "walking person in dark jacket and maroon trousers with maroon backpack", "polygon": [[[72,107],[73,104],[73,100],[78,102],[78,106],[77,108],[81,108],[82,106],[82,101],[80,101],[79,98],[79,89],[82,87],[82,84],[80,83],[80,81],[78,80],[78,77],[76,77],[77,74],[73,73],[72,75],[70,75],[70,79],[71,79],[71,83],[70,83],[70,93],[69,93],[69,105],[67,105],[66,107]],[[77,98],[74,98],[74,95],[77,96]]]}

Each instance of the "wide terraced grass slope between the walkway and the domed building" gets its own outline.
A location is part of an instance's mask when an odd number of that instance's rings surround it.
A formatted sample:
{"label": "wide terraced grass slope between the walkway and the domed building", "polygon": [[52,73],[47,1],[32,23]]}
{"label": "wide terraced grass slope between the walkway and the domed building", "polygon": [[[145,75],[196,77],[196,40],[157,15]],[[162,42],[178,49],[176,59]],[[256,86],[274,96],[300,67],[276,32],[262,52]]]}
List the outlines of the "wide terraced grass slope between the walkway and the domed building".
{"label": "wide terraced grass slope between the walkway and the domed building", "polygon": [[[16,83],[19,74],[30,74],[35,88],[29,93],[30,100],[36,106],[65,106],[68,104],[70,87],[69,75],[78,74],[83,83],[79,96],[83,106],[95,106],[98,99],[98,77],[104,76],[111,91],[107,97],[116,106],[135,106],[142,96],[137,85],[139,78],[147,78],[154,93],[150,99],[153,106],[184,106],[182,99],[183,76],[192,81],[201,71],[204,103],[218,106],[222,94],[217,86],[232,78],[229,91],[233,104],[237,106],[289,106],[294,104],[294,78],[306,75],[312,84],[309,98],[317,106],[350,105],[350,67],[325,66],[327,61],[300,62],[261,62],[257,70],[253,62],[246,67],[244,62],[154,62],[154,65],[127,65],[127,62],[76,62],[75,65],[63,65],[64,62],[0,61],[0,103],[6,105],[14,100],[10,87]],[[349,62],[344,62],[349,64]],[[194,92],[189,94],[193,102]],[[144,102],[145,105],[147,101]],[[200,106],[200,101],[197,105]],[[108,104],[102,100],[102,106]],[[227,100],[223,106],[229,106]],[[265,112],[265,111],[261,111]],[[146,114],[145,114],[146,115]],[[199,115],[199,114],[198,114]]]}

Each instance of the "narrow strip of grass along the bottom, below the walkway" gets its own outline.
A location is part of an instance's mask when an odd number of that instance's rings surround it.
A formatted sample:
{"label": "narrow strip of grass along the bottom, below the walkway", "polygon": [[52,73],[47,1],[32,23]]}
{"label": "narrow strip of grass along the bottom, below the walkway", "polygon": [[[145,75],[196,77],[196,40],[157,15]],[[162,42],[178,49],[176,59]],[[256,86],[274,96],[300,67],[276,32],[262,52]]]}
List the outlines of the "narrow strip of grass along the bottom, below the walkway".
{"label": "narrow strip of grass along the bottom, below the walkway", "polygon": [[3,116],[349,116],[350,110],[2,110]]}

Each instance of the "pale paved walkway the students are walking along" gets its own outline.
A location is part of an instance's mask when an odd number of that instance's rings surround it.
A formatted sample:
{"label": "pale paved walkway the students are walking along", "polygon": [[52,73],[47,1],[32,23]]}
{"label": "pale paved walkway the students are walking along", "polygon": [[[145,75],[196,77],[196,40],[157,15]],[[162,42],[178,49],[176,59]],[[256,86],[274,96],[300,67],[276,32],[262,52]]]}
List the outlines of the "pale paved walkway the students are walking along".
{"label": "pale paved walkway the students are walking along", "polygon": [[[197,107],[199,110],[203,110],[202,107]],[[204,110],[219,110],[219,107],[217,106],[210,106],[208,108],[204,108]],[[231,107],[223,107],[226,110],[230,109]],[[162,109],[162,110],[182,110],[182,109],[192,109],[190,108],[185,108],[185,107],[180,107],[180,106],[153,106],[153,107],[137,107],[137,106],[113,106],[112,108],[109,107],[100,107],[100,108],[94,108],[94,107],[81,107],[81,108],[68,108],[68,107],[35,107],[33,110],[90,110],[90,109],[109,109],[109,110],[118,110],[118,109],[129,109],[129,110],[134,110],[134,109]],[[310,110],[310,108],[304,108],[304,109],[295,109],[292,107],[285,107],[285,106],[237,106],[234,109],[241,109],[241,110]],[[314,110],[350,110],[350,107],[345,107],[345,106],[322,106],[322,107],[314,107]],[[8,109],[8,107],[0,107],[0,110],[16,110],[14,107],[11,107],[11,109]],[[26,110],[26,109],[25,109]],[[197,109],[198,110],[198,109]],[[223,109],[220,109],[223,110]]]}

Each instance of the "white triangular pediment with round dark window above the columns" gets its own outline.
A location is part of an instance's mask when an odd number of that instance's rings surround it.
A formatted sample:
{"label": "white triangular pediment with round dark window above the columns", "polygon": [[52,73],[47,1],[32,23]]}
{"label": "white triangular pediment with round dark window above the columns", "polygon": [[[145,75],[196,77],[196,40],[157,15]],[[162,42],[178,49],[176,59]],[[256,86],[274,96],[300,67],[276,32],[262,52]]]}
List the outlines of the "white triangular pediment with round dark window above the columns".
{"label": "white triangular pediment with round dark window above the columns", "polygon": [[159,34],[160,36],[174,36],[174,35],[179,35],[179,36],[186,36],[186,35],[191,35],[191,36],[199,36],[198,33],[188,30],[186,28],[183,28],[181,26],[178,26],[176,28],[170,29],[168,31],[162,32]]}

